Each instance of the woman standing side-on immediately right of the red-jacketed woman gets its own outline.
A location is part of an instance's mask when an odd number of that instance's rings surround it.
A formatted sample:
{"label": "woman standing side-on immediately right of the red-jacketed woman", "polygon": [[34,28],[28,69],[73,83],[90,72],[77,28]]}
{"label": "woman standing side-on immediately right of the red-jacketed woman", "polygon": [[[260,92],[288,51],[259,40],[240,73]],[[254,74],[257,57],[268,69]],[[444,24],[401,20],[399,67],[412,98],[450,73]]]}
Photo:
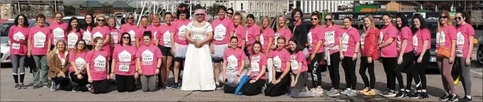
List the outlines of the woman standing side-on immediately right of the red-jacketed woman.
{"label": "woman standing side-on immediately right of the red-jacketed woman", "polygon": [[377,38],[378,48],[381,51],[381,60],[384,67],[384,72],[386,72],[386,84],[387,89],[381,92],[382,96],[396,96],[396,77],[394,73],[394,68],[396,66],[396,40],[397,28],[393,24],[393,18],[389,14],[384,14],[382,16],[384,27],[381,28],[379,33],[379,38]]}

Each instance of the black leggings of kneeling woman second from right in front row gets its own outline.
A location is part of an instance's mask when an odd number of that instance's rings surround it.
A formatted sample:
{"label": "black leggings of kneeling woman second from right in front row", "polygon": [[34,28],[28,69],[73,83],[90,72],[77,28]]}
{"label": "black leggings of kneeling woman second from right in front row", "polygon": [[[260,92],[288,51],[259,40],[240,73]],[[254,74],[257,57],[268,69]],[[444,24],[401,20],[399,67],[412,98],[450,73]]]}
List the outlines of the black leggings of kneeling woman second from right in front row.
{"label": "black leggings of kneeling woman second from right in front row", "polygon": [[[288,70],[288,69],[287,69]],[[280,78],[280,75],[282,75],[282,72],[275,72],[275,78],[273,79],[278,79]],[[286,94],[287,92],[287,87],[290,85],[290,75],[287,73],[285,77],[283,77],[280,82],[277,84],[273,85],[271,82],[266,85],[265,89],[265,96],[282,96]]]}

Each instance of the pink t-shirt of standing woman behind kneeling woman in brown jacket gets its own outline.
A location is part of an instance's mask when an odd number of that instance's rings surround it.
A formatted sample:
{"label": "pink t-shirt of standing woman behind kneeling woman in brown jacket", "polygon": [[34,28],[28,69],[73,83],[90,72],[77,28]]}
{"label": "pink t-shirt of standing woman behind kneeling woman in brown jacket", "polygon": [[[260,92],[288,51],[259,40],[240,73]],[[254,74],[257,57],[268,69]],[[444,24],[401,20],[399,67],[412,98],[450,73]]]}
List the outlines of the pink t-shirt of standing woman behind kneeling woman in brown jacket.
{"label": "pink t-shirt of standing woman behind kneeling woman in brown jacket", "polygon": [[66,22],[50,23],[48,28],[50,29],[50,32],[52,32],[52,36],[50,36],[53,42],[52,45],[55,45],[55,43],[57,43],[56,39],[62,39],[64,41],[67,41],[67,26],[68,24]]}

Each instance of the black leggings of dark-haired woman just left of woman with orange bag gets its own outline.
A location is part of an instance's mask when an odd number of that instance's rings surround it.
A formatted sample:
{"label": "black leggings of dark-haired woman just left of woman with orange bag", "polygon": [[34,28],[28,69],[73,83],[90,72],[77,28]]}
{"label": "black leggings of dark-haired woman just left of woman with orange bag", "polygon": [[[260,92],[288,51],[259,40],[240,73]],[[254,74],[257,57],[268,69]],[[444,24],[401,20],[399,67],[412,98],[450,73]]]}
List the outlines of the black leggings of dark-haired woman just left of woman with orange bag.
{"label": "black leggings of dark-haired woman just left of woman with orange bag", "polygon": [[[406,70],[406,74],[409,73],[411,75],[411,78],[407,78],[407,86],[406,89],[409,90],[411,89],[411,82],[412,79],[414,78],[414,82],[416,84],[416,89],[421,90],[421,89],[426,89],[426,67],[428,66],[429,59],[430,59],[430,52],[429,50],[426,50],[426,52],[423,55],[423,59],[421,59],[421,63],[418,63],[418,58],[420,57],[421,54],[418,56],[414,57],[414,66],[413,67],[408,67]],[[409,76],[408,75],[408,76]]]}

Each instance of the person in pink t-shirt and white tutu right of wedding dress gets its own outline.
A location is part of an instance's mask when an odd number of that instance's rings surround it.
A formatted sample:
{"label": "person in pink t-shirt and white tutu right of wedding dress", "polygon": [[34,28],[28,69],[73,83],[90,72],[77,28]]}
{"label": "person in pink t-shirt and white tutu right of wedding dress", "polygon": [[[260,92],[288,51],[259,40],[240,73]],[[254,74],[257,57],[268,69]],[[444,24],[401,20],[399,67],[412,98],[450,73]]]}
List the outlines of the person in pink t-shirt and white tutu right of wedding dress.
{"label": "person in pink t-shirt and white tutu right of wedding dress", "polygon": [[[224,53],[230,43],[230,37],[235,33],[233,21],[226,18],[226,7],[218,6],[218,19],[213,20],[213,41],[210,44],[210,51],[212,54],[212,62],[215,63],[215,83],[217,88],[222,86],[219,84],[220,62],[224,61]],[[238,43],[238,41],[237,41]],[[224,81],[224,80],[223,80]]]}

